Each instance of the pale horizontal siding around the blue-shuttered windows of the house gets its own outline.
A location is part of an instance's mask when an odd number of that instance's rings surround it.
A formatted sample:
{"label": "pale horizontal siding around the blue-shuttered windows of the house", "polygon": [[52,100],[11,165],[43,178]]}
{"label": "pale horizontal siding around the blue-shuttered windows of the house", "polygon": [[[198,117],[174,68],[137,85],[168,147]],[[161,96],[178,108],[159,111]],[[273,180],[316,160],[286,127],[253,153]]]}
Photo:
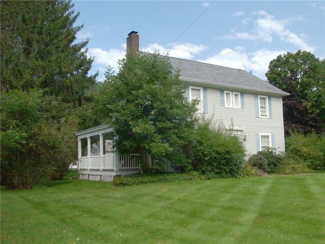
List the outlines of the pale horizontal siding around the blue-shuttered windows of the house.
{"label": "pale horizontal siding around the blue-shuttered windows of the house", "polygon": [[272,118],[256,117],[254,94],[244,93],[244,108],[229,108],[220,106],[220,90],[208,88],[208,113],[206,117],[211,117],[227,127],[233,122],[243,129],[246,135],[245,146],[247,154],[256,153],[256,133],[269,133],[274,135],[274,145],[277,151],[284,151],[284,130],[282,98],[271,97]]}

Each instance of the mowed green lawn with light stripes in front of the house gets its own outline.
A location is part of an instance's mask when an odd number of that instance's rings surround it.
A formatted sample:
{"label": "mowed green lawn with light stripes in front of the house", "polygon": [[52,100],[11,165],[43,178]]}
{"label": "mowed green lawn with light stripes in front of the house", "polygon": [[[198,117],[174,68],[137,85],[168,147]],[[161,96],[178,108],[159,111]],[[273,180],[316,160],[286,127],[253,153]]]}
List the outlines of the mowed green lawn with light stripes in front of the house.
{"label": "mowed green lawn with light stripes in front of the house", "polygon": [[[69,177],[69,176],[68,176]],[[1,190],[1,243],[324,243],[325,174]]]}

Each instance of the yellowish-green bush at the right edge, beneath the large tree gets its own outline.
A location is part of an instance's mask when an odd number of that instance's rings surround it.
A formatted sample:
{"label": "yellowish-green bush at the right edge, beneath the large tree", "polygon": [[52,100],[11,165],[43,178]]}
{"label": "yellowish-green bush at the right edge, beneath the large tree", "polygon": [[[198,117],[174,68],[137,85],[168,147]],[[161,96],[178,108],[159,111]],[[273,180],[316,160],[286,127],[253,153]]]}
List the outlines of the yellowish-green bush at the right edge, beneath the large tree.
{"label": "yellowish-green bush at the right edge, beneath the large tree", "polygon": [[295,161],[303,161],[308,168],[325,170],[325,136],[290,132],[285,140],[286,154]]}

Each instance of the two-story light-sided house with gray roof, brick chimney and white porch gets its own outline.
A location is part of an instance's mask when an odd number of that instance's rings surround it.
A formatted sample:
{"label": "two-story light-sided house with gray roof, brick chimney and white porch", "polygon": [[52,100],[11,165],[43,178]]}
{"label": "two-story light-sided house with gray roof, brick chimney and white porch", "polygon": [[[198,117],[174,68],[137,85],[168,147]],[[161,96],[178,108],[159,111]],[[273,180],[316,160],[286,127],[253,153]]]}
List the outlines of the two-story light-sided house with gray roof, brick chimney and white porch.
{"label": "two-story light-sided house with gray roof, brick chimney and white porch", "polygon": [[[139,35],[127,37],[127,51],[139,50]],[[169,57],[187,85],[189,101],[199,100],[199,113],[242,136],[247,155],[265,148],[284,151],[282,97],[289,95],[250,72]],[[76,133],[80,178],[110,181],[117,175],[139,172],[136,155],[119,157],[112,149],[108,125]],[[85,148],[83,150],[83,148]],[[167,171],[175,171],[169,164]]]}

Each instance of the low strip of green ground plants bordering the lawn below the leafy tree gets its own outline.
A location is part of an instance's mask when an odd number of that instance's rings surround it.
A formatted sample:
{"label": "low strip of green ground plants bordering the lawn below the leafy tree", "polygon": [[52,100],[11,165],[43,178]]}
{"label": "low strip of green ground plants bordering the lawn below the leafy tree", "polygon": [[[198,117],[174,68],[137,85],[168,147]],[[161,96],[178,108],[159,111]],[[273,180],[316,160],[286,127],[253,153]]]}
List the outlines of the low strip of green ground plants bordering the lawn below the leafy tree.
{"label": "low strip of green ground plants bordering the lawn below the leafy tree", "polygon": [[158,173],[158,174],[136,174],[114,178],[114,186],[133,186],[157,182],[176,182],[186,180],[202,180],[205,176],[198,172],[188,173]]}

